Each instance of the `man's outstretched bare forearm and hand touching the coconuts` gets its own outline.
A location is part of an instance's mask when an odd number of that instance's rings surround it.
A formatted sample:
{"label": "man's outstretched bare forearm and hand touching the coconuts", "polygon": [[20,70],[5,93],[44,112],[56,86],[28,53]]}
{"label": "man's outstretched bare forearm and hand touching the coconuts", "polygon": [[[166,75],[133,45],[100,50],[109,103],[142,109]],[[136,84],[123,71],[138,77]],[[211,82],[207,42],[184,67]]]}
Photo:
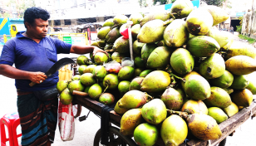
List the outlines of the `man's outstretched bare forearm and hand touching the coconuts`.
{"label": "man's outstretched bare forearm and hand touching the coconuts", "polygon": [[103,51],[103,50],[101,50],[100,48],[98,48],[96,46],[72,45],[70,52],[71,53],[76,53],[76,54],[86,54],[86,53],[93,52],[93,56],[95,56],[97,52],[103,52],[103,53],[105,53],[108,56],[106,51]]}

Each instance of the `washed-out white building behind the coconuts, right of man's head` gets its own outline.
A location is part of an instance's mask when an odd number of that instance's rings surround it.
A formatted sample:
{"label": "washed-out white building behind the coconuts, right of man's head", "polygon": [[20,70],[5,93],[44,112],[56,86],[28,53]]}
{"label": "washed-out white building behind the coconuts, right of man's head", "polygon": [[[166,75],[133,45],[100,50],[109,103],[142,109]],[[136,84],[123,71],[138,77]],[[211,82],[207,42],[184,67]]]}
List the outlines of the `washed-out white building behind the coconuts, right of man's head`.
{"label": "washed-out white building behind the coconuts, right of man's head", "polygon": [[86,23],[104,22],[117,14],[129,17],[133,12],[149,12],[153,2],[147,1],[149,7],[141,8],[138,0],[35,0],[36,7],[50,12],[51,27],[66,30]]}

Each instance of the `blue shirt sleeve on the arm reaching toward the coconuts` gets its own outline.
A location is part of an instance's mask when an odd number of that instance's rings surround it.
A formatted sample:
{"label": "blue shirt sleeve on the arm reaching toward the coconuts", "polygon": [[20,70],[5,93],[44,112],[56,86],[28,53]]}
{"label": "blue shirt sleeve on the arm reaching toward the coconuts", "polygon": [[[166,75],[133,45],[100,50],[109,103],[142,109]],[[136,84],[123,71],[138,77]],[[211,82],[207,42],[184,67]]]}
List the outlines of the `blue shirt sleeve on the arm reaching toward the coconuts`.
{"label": "blue shirt sleeve on the arm reaching toward the coconuts", "polygon": [[61,41],[59,39],[54,39],[54,43],[57,49],[57,54],[69,54],[71,50],[71,44]]}

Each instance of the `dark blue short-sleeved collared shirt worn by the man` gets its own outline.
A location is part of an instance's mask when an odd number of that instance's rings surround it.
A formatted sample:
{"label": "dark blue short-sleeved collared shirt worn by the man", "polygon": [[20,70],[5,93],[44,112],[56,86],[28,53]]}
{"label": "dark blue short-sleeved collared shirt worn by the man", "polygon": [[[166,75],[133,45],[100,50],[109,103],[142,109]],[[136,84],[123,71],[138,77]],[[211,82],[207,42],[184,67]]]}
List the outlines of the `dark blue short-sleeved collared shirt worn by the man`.
{"label": "dark blue short-sleeved collared shirt worn by the man", "polygon": [[[15,67],[22,71],[41,71],[47,72],[51,66],[57,61],[57,54],[69,54],[71,44],[60,41],[56,38],[46,36],[37,43],[31,38],[22,35],[23,32],[17,32],[2,47],[0,56],[0,64]],[[45,90],[57,85],[58,72],[49,76],[42,84],[29,86],[31,80],[15,80],[17,90],[34,91]]]}

